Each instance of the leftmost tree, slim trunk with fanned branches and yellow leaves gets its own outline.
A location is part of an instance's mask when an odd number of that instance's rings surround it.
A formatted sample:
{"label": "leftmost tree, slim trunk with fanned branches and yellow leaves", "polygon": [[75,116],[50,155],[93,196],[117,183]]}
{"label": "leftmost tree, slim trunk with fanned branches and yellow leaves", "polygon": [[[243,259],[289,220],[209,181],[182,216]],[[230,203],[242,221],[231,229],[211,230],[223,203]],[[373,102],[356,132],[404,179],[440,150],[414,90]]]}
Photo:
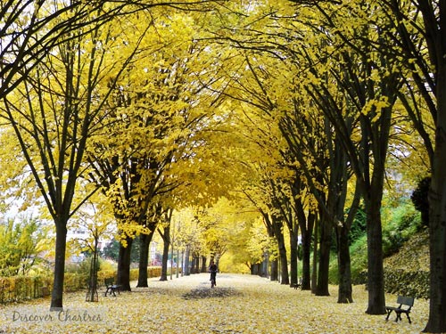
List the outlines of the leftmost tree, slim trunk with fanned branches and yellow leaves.
{"label": "leftmost tree, slim trunk with fanned branches and yellow leaves", "polygon": [[[94,16],[94,12],[90,14]],[[87,19],[82,21],[87,24]],[[59,20],[63,22],[63,15]],[[74,30],[70,40],[65,41],[62,36],[53,53],[46,53],[45,62],[34,66],[22,79],[24,84],[3,99],[1,117],[12,126],[54,220],[52,310],[62,307],[68,221],[97,190],[79,182],[87,173],[84,154],[91,137],[106,126],[103,103],[137,48],[137,41],[136,46],[121,44],[122,39],[115,38],[112,27],[104,27],[99,20],[89,27],[88,35]],[[37,37],[42,33],[37,31]],[[107,63],[111,57],[118,59],[115,48],[122,51],[126,47],[130,51],[124,53],[127,58],[120,62],[120,67]],[[108,72],[107,76],[103,76],[103,71]],[[85,197],[74,205],[76,190],[81,186],[86,189]]]}

